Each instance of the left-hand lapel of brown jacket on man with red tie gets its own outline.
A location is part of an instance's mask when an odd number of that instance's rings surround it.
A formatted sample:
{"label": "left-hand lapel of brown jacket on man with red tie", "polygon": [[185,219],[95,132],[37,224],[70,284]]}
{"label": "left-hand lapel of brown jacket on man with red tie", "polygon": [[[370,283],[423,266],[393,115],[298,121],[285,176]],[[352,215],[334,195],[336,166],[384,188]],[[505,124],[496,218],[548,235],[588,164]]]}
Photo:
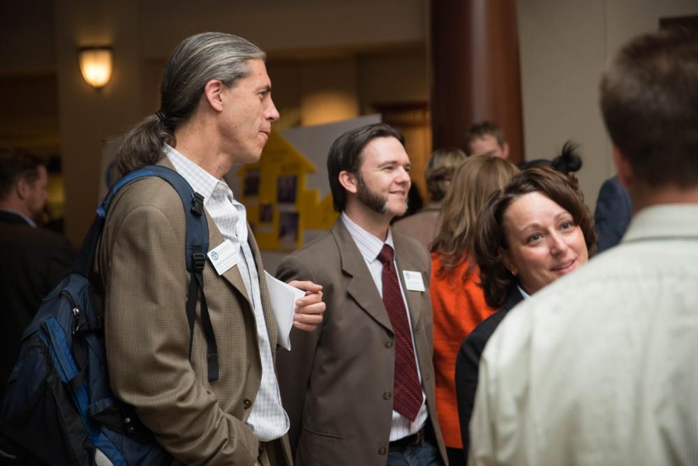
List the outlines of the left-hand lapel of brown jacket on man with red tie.
{"label": "left-hand lapel of brown jacket on man with red tie", "polygon": [[332,226],[332,236],[339,248],[342,270],[351,277],[347,287],[348,294],[373,319],[392,330],[383,299],[380,299],[380,294],[376,290],[376,283],[371,278],[364,256],[361,255],[354,239],[344,226],[341,216]]}

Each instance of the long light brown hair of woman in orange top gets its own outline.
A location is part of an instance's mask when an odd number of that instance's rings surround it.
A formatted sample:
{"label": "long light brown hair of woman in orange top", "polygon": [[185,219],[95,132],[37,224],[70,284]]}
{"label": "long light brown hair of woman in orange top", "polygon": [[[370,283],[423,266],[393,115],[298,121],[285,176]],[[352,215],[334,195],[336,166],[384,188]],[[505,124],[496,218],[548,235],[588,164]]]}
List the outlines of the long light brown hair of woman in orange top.
{"label": "long light brown hair of woman in orange top", "polygon": [[[473,255],[477,214],[487,198],[509,183],[519,172],[508,160],[486,155],[468,157],[453,174],[449,192],[441,207],[438,234],[431,250],[442,257],[438,277],[450,276]],[[475,269],[470,261],[463,280]]]}

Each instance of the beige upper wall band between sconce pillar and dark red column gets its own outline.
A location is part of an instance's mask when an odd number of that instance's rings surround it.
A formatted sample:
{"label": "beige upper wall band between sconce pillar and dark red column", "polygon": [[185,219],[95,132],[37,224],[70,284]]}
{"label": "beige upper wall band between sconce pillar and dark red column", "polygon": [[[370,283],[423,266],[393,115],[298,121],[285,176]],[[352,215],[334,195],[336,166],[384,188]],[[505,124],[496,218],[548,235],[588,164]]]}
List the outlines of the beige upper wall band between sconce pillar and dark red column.
{"label": "beige upper wall band between sconce pillar and dark red column", "polygon": [[297,56],[422,43],[426,0],[140,1],[145,57],[168,57],[200,31],[235,33],[272,54]]}

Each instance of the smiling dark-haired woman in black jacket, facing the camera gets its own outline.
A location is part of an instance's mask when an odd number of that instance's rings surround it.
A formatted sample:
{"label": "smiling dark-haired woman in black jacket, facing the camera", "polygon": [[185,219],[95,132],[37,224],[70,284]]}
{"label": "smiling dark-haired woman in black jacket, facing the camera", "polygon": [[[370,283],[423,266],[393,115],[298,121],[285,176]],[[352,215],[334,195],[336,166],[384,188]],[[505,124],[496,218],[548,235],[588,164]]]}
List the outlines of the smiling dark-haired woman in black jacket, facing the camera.
{"label": "smiling dark-haired woman in black jacket, facing the camera", "polygon": [[551,168],[523,170],[480,212],[473,251],[484,299],[499,310],[468,335],[456,360],[466,456],[477,371],[487,340],[519,301],[586,264],[595,249],[593,217],[577,179]]}

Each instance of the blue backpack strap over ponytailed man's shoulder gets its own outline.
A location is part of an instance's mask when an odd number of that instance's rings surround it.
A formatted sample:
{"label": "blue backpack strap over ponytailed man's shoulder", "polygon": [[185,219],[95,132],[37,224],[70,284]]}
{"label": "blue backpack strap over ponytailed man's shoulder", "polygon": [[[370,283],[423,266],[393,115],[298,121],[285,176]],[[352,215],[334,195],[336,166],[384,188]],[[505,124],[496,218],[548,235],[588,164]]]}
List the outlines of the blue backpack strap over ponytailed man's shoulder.
{"label": "blue backpack strap over ponytailed man's shoulder", "polygon": [[91,266],[94,263],[94,255],[97,250],[99,237],[101,236],[107,211],[116,197],[119,190],[131,181],[143,176],[158,176],[167,181],[174,190],[177,191],[184,206],[186,216],[186,240],[184,257],[186,259],[186,269],[190,273],[189,289],[186,299],[186,317],[189,325],[189,359],[191,359],[194,321],[196,319],[196,303],[201,293],[201,320],[206,336],[208,379],[218,380],[218,346],[216,336],[211,324],[211,317],[204,294],[203,270],[206,264],[206,254],[209,249],[209,226],[206,221],[204,211],[204,197],[195,193],[189,183],[174,170],[161,165],[149,165],[147,167],[134,170],[119,179],[112,186],[109,193],[97,208],[97,216],[87,233],[87,237],[82,243],[80,253],[75,261],[75,271],[87,277]]}

